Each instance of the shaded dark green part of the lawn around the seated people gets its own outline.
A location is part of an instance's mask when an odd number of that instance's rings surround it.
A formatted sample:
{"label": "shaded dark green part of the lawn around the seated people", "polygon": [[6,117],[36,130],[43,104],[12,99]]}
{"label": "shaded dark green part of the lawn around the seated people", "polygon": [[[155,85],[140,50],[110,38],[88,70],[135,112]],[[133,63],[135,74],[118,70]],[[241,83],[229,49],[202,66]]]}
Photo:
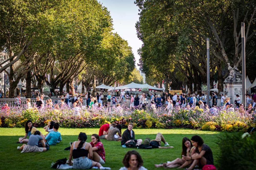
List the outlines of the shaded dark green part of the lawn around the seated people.
{"label": "shaded dark green part of the lawn around the seated people", "polygon": [[[157,169],[154,167],[154,164],[180,158],[182,151],[182,138],[191,138],[193,135],[195,134],[164,134],[166,141],[170,144],[170,146],[174,147],[173,149],[136,150],[141,154],[144,161],[144,166],[148,170]],[[219,147],[215,143],[215,140],[219,135],[221,135],[221,133],[199,135],[204,139],[205,143],[211,147],[214,154],[214,160],[216,162]],[[136,139],[142,140],[144,140],[146,137],[155,139],[155,136],[156,134],[135,134]],[[58,143],[56,146],[50,146],[48,151],[42,153],[20,153],[20,150],[17,150],[17,146],[21,146],[22,144],[15,143],[19,137],[22,136],[0,137],[1,162],[3,162],[0,169],[51,169],[50,165],[52,162],[65,157],[68,159],[69,151],[64,150],[64,148],[69,146],[69,142],[76,141],[78,134],[62,135],[62,141],[60,143]],[[88,135],[87,142],[89,142],[90,139],[91,135]],[[132,149],[122,148],[121,142],[107,140],[101,141],[106,152],[106,164],[104,166],[118,170],[123,166],[122,160],[125,153]],[[163,142],[161,146],[164,146]]]}

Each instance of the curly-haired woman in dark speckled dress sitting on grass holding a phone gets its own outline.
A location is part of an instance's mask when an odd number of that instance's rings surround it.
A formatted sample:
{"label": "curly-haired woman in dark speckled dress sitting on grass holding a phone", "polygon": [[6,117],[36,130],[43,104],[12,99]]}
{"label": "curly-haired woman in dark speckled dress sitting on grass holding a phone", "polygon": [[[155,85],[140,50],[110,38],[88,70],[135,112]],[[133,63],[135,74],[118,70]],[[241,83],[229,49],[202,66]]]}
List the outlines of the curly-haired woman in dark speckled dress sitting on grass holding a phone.
{"label": "curly-haired woman in dark speckled dress sitting on grass holding a phone", "polygon": [[183,156],[186,161],[192,160],[193,163],[186,170],[192,170],[198,163],[201,167],[204,165],[214,165],[211,148],[204,144],[204,140],[198,136],[192,136],[191,142],[196,147],[196,153],[191,156]]}

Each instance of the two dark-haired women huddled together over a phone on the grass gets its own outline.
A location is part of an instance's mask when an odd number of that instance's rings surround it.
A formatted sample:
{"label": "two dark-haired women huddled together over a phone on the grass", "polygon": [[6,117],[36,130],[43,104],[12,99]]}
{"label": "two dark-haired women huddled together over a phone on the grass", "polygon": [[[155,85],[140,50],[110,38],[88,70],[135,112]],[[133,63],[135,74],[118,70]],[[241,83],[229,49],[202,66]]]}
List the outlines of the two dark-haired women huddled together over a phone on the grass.
{"label": "two dark-haired women huddled together over a phone on the grass", "polygon": [[[192,142],[191,142],[192,141]],[[204,140],[198,136],[192,136],[191,141],[184,137],[182,140],[182,159],[177,158],[172,162],[155,164],[155,167],[164,168],[186,168],[192,170],[197,164],[200,166],[214,165],[211,148],[204,144]]]}

